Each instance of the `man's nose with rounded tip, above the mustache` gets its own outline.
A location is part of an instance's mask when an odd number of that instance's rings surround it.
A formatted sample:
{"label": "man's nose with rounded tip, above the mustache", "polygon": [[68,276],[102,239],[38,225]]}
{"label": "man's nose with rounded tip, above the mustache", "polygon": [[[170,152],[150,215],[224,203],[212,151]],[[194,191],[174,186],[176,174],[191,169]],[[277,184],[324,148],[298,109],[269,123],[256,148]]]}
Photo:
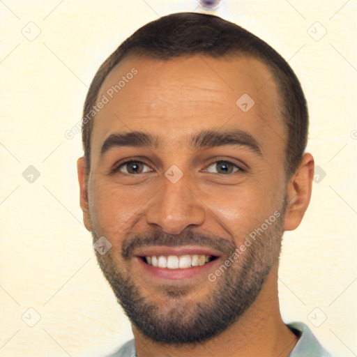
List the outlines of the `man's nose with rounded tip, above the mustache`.
{"label": "man's nose with rounded tip, above the mustache", "polygon": [[200,201],[185,179],[172,183],[164,178],[163,187],[153,197],[146,222],[159,226],[167,234],[180,234],[190,225],[202,225],[206,205]]}

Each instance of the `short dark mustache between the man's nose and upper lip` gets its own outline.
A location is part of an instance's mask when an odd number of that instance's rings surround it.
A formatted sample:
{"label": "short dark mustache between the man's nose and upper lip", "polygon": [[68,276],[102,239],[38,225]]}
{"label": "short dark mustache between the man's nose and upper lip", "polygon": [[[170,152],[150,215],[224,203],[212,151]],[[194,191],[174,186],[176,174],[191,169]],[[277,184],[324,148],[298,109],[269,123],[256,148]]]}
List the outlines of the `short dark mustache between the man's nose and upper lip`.
{"label": "short dark mustache between the man's nose and upper lip", "polygon": [[123,240],[121,246],[121,257],[129,260],[134,257],[135,250],[142,247],[152,247],[165,245],[167,247],[179,247],[181,245],[199,245],[211,247],[222,255],[231,255],[236,247],[234,243],[227,238],[220,238],[212,234],[201,234],[197,231],[186,231],[185,234],[179,236],[167,234],[162,231],[152,231],[150,233],[135,234],[128,236]]}

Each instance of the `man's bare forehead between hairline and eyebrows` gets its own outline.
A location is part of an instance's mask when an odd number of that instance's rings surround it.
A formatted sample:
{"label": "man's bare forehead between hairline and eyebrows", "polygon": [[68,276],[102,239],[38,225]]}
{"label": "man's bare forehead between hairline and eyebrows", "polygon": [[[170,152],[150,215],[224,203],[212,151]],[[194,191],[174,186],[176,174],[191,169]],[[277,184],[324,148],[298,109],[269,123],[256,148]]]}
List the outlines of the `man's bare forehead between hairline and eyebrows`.
{"label": "man's bare forehead between hairline and eyebrows", "polygon": [[197,130],[243,130],[263,145],[284,137],[272,73],[247,56],[128,57],[109,73],[98,101],[105,105],[94,120],[92,156],[110,134],[131,130],[151,132],[172,149]]}

